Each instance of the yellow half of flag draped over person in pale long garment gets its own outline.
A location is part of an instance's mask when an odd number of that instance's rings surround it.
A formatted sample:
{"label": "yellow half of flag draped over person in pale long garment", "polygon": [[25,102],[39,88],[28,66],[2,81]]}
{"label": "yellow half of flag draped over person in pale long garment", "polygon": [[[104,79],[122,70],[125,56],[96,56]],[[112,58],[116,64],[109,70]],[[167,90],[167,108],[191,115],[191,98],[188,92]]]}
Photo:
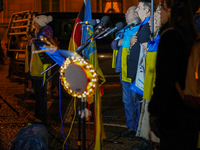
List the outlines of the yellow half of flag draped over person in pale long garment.
{"label": "yellow half of flag draped over person in pale long garment", "polygon": [[145,79],[143,99],[151,100],[156,78],[156,57],[157,52],[147,52],[145,62]]}

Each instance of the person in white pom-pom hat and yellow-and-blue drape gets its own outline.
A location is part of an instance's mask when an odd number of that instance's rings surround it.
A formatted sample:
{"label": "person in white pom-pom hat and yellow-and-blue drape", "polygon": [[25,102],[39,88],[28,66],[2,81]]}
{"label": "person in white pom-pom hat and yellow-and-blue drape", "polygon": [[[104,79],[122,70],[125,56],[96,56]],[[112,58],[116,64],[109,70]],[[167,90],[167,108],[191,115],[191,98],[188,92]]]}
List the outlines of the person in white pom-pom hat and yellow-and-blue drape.
{"label": "person in white pom-pom hat and yellow-and-blue drape", "polygon": [[35,33],[31,40],[28,42],[28,47],[31,49],[30,66],[26,65],[26,72],[30,75],[35,92],[35,114],[31,119],[39,119],[43,125],[47,125],[47,100],[45,97],[45,84],[44,75],[41,73],[48,67],[49,64],[43,64],[40,59],[39,53],[36,51],[36,40],[40,40],[40,36],[47,38],[52,44],[54,41],[53,31],[47,24],[53,20],[52,16],[39,15],[34,19]]}

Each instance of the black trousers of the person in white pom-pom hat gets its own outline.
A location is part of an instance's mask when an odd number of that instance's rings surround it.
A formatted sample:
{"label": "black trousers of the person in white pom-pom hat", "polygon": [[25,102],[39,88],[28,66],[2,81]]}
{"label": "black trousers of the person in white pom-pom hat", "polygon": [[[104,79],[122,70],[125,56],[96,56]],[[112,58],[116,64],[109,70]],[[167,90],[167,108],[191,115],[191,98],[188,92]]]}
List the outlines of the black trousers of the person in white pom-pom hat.
{"label": "black trousers of the person in white pom-pom hat", "polygon": [[43,85],[42,79],[32,80],[33,88],[35,90],[35,117],[42,121],[42,124],[47,126],[47,97],[46,84]]}

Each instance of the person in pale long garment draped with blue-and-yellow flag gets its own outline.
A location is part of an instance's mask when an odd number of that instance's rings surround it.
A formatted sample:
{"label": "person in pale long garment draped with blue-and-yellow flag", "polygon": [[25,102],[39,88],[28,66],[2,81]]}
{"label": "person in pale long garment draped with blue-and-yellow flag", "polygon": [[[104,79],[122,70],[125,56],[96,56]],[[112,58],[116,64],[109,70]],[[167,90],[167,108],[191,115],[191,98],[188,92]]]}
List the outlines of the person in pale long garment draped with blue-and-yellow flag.
{"label": "person in pale long garment draped with blue-and-yellow flag", "polygon": [[[145,61],[145,79],[144,79],[144,92],[142,109],[140,114],[139,126],[136,133],[136,137],[142,137],[139,145],[134,145],[132,150],[150,149],[151,147],[158,147],[160,139],[150,130],[149,125],[149,112],[147,110],[148,103],[151,100],[153,86],[155,82],[155,63],[157,56],[158,43],[160,35],[158,34],[161,21],[161,5],[158,4],[156,12],[154,13],[154,32],[153,41],[148,41],[146,49],[146,61]],[[151,27],[151,19],[149,20],[149,26]],[[152,142],[152,144],[150,144]]]}

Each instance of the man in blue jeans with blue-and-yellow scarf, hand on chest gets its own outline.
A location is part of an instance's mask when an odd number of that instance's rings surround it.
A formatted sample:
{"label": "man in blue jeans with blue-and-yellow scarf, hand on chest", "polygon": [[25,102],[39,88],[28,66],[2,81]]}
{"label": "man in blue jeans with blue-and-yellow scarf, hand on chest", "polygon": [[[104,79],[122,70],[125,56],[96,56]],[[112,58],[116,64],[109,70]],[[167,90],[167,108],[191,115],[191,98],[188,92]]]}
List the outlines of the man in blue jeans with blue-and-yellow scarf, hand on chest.
{"label": "man in blue jeans with blue-and-yellow scarf, hand on chest", "polygon": [[124,102],[124,109],[126,115],[126,126],[128,129],[123,133],[120,133],[119,136],[135,136],[137,131],[138,123],[135,121],[135,111],[133,100],[136,97],[136,94],[131,93],[129,87],[131,85],[131,79],[127,78],[127,54],[130,47],[130,38],[137,32],[139,29],[140,19],[136,13],[137,6],[131,6],[125,13],[125,18],[127,26],[122,29],[115,40],[111,43],[113,50],[118,50],[117,56],[115,58],[116,65],[115,71],[120,72],[120,81],[122,84],[122,100]]}

